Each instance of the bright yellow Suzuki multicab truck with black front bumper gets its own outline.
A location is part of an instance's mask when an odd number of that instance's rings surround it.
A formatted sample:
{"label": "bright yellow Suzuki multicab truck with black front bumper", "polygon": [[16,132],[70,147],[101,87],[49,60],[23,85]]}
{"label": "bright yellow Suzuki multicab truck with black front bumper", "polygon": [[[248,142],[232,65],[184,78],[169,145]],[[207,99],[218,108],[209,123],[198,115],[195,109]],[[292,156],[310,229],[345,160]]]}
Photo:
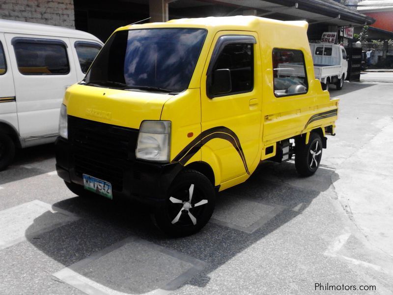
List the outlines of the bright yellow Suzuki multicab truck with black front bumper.
{"label": "bright yellow Suzuki multicab truck with black front bumper", "polygon": [[66,91],[57,174],[77,195],[150,205],[173,236],[200,230],[216,192],[263,160],[294,156],[311,176],[338,100],[314,78],[307,28],[236,16],[117,29]]}

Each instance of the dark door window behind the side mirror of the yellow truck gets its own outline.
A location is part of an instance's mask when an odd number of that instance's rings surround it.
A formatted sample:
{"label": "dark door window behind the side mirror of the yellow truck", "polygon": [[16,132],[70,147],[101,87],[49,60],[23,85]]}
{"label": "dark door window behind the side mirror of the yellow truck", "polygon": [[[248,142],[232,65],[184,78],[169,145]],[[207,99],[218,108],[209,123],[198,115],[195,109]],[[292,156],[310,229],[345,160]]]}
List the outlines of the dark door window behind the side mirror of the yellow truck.
{"label": "dark door window behind the side mirror of the yellow truck", "polygon": [[253,44],[232,43],[224,47],[213,70],[229,69],[233,93],[253,90]]}

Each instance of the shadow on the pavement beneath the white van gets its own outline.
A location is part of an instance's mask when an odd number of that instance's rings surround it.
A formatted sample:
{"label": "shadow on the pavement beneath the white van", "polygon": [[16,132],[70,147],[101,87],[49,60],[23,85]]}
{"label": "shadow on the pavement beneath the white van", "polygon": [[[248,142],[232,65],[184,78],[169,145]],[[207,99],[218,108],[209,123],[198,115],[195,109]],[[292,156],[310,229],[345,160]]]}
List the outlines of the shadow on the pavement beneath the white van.
{"label": "shadow on the pavement beneath the white van", "polygon": [[0,184],[55,170],[54,144],[17,149],[13,163],[0,172]]}

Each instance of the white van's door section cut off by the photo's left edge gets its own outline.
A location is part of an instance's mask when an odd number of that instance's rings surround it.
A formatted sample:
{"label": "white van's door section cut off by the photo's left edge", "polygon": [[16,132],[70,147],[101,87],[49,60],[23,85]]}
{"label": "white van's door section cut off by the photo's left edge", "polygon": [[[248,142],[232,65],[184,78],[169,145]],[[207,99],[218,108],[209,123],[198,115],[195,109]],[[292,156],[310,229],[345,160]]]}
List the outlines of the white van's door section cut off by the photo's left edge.
{"label": "white van's door section cut off by the photo's left edge", "polygon": [[0,123],[1,122],[5,122],[11,125],[15,130],[18,130],[14,80],[3,33],[0,33]]}

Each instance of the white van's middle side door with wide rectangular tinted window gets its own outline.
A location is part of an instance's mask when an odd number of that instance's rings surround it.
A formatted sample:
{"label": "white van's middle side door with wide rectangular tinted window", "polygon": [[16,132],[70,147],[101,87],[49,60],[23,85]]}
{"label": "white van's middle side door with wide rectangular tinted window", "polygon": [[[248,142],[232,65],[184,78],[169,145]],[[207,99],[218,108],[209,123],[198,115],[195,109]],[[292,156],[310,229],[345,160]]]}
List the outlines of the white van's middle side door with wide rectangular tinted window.
{"label": "white van's middle side door with wide rectangular tinted window", "polygon": [[5,39],[21,137],[56,136],[65,89],[77,81],[68,38],[6,33]]}

